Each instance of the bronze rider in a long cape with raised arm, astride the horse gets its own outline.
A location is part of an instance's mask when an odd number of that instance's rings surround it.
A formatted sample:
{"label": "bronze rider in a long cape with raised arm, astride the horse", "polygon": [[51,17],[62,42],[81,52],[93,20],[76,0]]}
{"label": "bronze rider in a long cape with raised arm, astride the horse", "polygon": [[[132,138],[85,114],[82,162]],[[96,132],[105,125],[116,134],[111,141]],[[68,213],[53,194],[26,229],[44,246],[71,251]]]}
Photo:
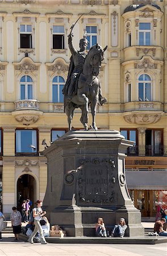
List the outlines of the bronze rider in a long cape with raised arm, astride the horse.
{"label": "bronze rider in a long cape with raised arm, astride the horse", "polygon": [[[62,93],[66,95],[67,103],[72,100],[73,95],[77,94],[77,82],[87,56],[86,47],[88,43],[84,35],[80,40],[80,51],[77,51],[77,49],[73,47],[72,37],[73,34],[70,33],[68,36],[68,45],[72,56],[70,58],[68,78],[62,90]],[[102,97],[101,86],[99,85],[99,105],[103,105],[106,101],[106,98]]]}

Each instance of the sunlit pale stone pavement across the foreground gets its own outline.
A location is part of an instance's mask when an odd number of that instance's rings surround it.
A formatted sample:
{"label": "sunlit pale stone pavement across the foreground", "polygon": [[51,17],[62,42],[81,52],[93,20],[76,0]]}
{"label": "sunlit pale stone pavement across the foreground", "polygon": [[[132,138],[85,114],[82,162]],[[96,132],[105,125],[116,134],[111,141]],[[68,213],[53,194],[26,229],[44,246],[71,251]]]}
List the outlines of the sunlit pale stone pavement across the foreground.
{"label": "sunlit pale stone pavement across the foreground", "polygon": [[[143,224],[143,223],[142,223]],[[10,222],[9,222],[10,225]],[[25,224],[23,224],[25,225]],[[146,228],[152,228],[153,222],[145,222]],[[127,244],[60,244],[30,243],[14,241],[14,234],[3,233],[0,241],[0,256],[157,256],[167,255],[167,244],[156,245],[127,245]]]}

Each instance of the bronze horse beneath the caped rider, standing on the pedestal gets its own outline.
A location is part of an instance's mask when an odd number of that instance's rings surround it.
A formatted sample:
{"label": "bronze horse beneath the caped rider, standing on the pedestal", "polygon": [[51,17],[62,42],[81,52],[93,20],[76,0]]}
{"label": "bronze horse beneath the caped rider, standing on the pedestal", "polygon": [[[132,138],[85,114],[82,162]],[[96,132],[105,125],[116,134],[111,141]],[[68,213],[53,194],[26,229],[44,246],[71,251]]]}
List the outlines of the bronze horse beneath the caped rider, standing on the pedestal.
{"label": "bronze horse beneath the caped rider, standing on the pedestal", "polygon": [[72,96],[70,102],[66,100],[67,96],[64,95],[64,109],[68,116],[69,130],[72,130],[72,119],[74,109],[76,108],[82,110],[80,121],[85,130],[88,130],[89,105],[93,118],[91,129],[97,130],[95,123],[95,114],[99,100],[99,80],[97,76],[101,69],[101,62],[105,59],[103,54],[106,49],[107,46],[103,49],[99,44],[90,48],[77,81],[77,94]]}

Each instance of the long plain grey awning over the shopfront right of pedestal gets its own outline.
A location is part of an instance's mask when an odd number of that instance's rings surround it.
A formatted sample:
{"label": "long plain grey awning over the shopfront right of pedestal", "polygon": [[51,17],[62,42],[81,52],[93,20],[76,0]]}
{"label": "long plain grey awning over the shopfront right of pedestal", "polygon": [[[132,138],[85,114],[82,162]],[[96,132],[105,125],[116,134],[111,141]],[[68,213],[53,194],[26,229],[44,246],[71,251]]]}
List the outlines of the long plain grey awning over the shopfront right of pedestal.
{"label": "long plain grey awning over the shopfront right of pedestal", "polygon": [[167,190],[167,171],[126,170],[128,189]]}

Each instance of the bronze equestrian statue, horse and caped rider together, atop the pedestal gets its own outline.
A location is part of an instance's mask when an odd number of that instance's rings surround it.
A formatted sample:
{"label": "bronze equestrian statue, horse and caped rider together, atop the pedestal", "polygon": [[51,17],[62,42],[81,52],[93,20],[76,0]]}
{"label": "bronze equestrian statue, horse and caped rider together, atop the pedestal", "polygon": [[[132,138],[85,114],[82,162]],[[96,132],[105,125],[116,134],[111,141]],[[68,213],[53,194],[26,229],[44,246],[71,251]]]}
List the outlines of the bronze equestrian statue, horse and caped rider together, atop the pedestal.
{"label": "bronze equestrian statue, horse and caped rider together, atop the pedestal", "polygon": [[[71,27],[72,30],[73,27],[74,25]],[[69,130],[72,130],[72,119],[74,109],[76,108],[82,110],[80,121],[85,130],[88,130],[87,122],[90,105],[93,118],[92,126],[90,127],[97,130],[95,124],[97,105],[103,105],[107,102],[106,98],[102,97],[101,86],[98,80],[101,62],[104,60],[103,53],[106,51],[107,46],[103,49],[99,44],[96,44],[87,53],[88,41],[86,35],[83,35],[83,38],[80,40],[80,51],[77,51],[72,42],[72,30],[68,35],[68,45],[72,56],[70,57],[68,78],[62,89],[64,94],[64,110],[68,116]]]}

